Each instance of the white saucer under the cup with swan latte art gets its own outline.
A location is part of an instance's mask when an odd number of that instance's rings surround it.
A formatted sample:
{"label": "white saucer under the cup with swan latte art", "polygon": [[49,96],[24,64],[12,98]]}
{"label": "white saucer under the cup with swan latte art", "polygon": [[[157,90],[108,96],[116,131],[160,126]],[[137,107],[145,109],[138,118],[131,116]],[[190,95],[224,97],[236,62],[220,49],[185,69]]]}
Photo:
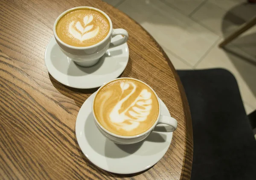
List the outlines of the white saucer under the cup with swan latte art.
{"label": "white saucer under the cup with swan latte art", "polygon": [[[113,173],[141,172],[157,163],[168,150],[172,132],[152,132],[144,141],[121,145],[113,143],[97,129],[91,111],[93,93],[82,105],[76,118],[76,138],[84,155],[96,166]],[[162,115],[171,116],[160,100]]]}

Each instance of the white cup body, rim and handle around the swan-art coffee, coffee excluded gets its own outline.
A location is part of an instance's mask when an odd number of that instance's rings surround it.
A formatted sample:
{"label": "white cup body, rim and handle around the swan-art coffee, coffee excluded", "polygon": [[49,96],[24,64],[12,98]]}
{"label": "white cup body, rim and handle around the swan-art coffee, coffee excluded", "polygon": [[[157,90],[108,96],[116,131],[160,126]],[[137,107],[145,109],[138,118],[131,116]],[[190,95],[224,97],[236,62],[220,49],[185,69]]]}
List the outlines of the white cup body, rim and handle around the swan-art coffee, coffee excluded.
{"label": "white cup body, rim and handle around the swan-art coffee, coffee excluded", "polygon": [[[134,78],[117,78],[117,79],[131,79],[131,80],[136,80],[139,82],[142,82],[138,79],[134,79]],[[112,80],[115,81],[116,79]],[[110,82],[112,82],[110,81]],[[109,83],[109,82],[108,82]],[[105,83],[105,84],[108,84]],[[157,97],[158,100],[158,107],[159,107],[159,111],[158,111],[158,117],[157,120],[155,121],[155,123],[145,132],[139,134],[139,135],[134,135],[134,136],[123,136],[123,135],[116,135],[113,132],[108,131],[105,127],[103,127],[99,121],[96,118],[96,115],[94,113],[94,101],[95,101],[95,97],[97,95],[97,93],[99,92],[100,89],[102,89],[102,87],[105,86],[105,84],[103,84],[99,90],[97,90],[94,98],[93,98],[93,102],[92,102],[92,112],[93,112],[93,117],[94,117],[94,122],[96,124],[96,127],[99,129],[99,131],[102,133],[102,135],[104,135],[106,138],[108,138],[109,140],[113,141],[114,143],[119,143],[119,144],[132,144],[132,143],[138,143],[140,141],[143,141],[145,138],[148,137],[148,135],[154,131],[154,129],[156,127],[158,127],[158,124],[166,124],[168,126],[161,126],[161,128],[158,128],[158,132],[173,132],[177,129],[177,120],[175,118],[172,118],[170,116],[165,116],[165,115],[161,115],[161,104],[159,101],[159,98],[157,96],[157,94],[155,93],[155,91],[145,82],[142,82],[143,84],[145,84],[146,86],[148,86],[152,92],[154,93],[154,95]],[[157,129],[157,128],[156,128]]]}

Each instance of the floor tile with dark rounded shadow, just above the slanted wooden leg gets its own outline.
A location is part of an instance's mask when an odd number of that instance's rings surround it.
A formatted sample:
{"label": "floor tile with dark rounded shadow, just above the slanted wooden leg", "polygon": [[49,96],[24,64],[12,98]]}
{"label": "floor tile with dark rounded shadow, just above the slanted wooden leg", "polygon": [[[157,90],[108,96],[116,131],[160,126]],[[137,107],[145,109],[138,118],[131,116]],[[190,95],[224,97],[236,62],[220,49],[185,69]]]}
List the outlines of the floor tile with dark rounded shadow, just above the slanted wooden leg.
{"label": "floor tile with dark rounded shadow, just above the slanted wooden leg", "polygon": [[256,16],[256,5],[245,0],[208,0],[192,18],[218,34],[227,37],[240,25]]}

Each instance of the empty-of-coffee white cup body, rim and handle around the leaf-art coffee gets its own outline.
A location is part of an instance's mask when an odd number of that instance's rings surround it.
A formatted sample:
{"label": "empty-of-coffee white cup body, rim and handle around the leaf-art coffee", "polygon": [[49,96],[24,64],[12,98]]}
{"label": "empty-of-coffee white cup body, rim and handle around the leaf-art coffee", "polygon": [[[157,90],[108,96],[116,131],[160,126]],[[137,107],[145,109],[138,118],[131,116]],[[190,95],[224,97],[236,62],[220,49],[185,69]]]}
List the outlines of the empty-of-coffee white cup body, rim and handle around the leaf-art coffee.
{"label": "empty-of-coffee white cup body, rim and handle around the leaf-art coffee", "polygon": [[[67,14],[70,11],[74,11],[76,9],[81,8],[87,8],[87,9],[93,9],[95,11],[99,11],[102,13],[107,19],[110,24],[110,30],[108,32],[108,35],[99,43],[87,47],[76,47],[72,45],[68,45],[67,43],[61,41],[61,39],[57,36],[56,33],[56,25],[58,21],[63,17],[65,14]],[[66,54],[71,60],[76,62],[76,64],[84,67],[95,65],[99,58],[102,57],[105,52],[108,50],[108,48],[113,48],[118,45],[122,45],[128,40],[128,32],[125,29],[113,29],[111,19],[108,17],[108,15],[93,7],[88,6],[81,6],[76,8],[71,8],[67,11],[64,11],[59,17],[55,20],[55,23],[53,25],[53,34],[55,37],[56,42],[58,43],[59,47],[61,48],[61,51]],[[123,35],[122,39],[116,40],[114,42],[111,42],[112,37],[115,37],[116,35]]]}

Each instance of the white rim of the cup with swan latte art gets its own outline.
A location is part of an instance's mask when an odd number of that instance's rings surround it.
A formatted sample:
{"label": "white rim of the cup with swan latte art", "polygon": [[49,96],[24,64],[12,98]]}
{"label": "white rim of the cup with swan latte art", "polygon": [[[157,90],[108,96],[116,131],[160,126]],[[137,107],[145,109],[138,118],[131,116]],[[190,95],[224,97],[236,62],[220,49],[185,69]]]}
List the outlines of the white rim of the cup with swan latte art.
{"label": "white rim of the cup with swan latte art", "polygon": [[[95,116],[95,113],[94,113],[94,108],[93,108],[93,107],[94,107],[95,97],[96,97],[97,94],[99,93],[99,90],[101,90],[103,87],[105,87],[106,84],[109,84],[110,82],[116,81],[116,80],[118,80],[118,79],[131,79],[131,80],[135,80],[135,81],[141,82],[141,83],[145,84],[147,87],[149,87],[149,89],[150,89],[150,90],[154,93],[154,95],[157,97],[157,102],[158,102],[158,115],[157,115],[157,118],[156,118],[154,124],[153,124],[148,130],[146,130],[145,132],[142,132],[142,133],[140,133],[140,134],[138,134],[138,135],[133,135],[133,136],[117,135],[117,134],[115,134],[115,133],[113,133],[113,132],[110,132],[110,131],[109,131],[108,129],[106,129],[105,127],[103,127],[103,126],[99,123],[99,121],[97,120],[97,118],[96,118],[96,116]],[[158,96],[157,96],[157,93],[152,89],[152,87],[150,87],[150,86],[149,86],[148,84],[146,84],[145,82],[140,81],[139,79],[128,78],[128,77],[122,77],[122,78],[113,79],[113,80],[110,81],[110,82],[107,82],[107,83],[103,84],[103,85],[96,91],[96,94],[95,94],[95,96],[93,97],[92,112],[93,112],[93,118],[95,119],[95,122],[97,123],[97,125],[98,125],[103,131],[105,131],[107,134],[112,135],[112,136],[114,136],[114,137],[116,137],[116,138],[122,138],[122,139],[134,139],[134,138],[141,137],[141,136],[147,134],[148,132],[151,132],[151,131],[154,129],[154,127],[156,126],[156,124],[157,124],[157,122],[158,122],[158,120],[159,120],[159,118],[160,118],[160,113],[161,113],[161,104],[160,104],[159,98],[158,98]]]}

